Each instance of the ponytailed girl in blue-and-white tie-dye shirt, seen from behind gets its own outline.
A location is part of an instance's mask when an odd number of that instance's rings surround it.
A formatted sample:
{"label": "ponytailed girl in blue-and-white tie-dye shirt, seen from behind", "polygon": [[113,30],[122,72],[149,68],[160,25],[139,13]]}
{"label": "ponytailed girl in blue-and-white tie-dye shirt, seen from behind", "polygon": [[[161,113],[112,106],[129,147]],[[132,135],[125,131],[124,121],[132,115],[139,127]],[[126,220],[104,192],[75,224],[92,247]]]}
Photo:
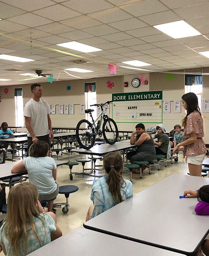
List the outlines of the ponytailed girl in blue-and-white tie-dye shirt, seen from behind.
{"label": "ponytailed girl in blue-and-white tie-dye shirt, seen from behind", "polygon": [[130,180],[123,179],[123,159],[119,151],[110,152],[104,157],[106,176],[94,180],[91,200],[86,221],[112,208],[116,204],[133,196],[133,185]]}

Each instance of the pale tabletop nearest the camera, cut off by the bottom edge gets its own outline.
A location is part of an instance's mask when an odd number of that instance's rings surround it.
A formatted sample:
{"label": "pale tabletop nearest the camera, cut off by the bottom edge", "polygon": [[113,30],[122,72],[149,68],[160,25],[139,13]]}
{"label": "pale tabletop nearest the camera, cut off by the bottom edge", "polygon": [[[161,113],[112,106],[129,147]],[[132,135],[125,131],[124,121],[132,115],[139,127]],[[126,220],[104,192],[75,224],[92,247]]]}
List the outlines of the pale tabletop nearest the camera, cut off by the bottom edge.
{"label": "pale tabletop nearest the camera, cut off by the bottom edge", "polygon": [[77,228],[46,244],[30,256],[182,256],[145,244],[128,241],[92,230]]}

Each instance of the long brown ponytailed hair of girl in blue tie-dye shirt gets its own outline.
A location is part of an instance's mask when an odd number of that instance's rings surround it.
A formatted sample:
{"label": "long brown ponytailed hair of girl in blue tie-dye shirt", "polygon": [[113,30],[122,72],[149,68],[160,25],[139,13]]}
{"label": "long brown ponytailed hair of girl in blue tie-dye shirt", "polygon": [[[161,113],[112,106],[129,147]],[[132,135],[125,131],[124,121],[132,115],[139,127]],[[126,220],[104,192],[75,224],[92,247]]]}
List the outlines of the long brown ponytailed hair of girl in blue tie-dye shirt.
{"label": "long brown ponytailed hair of girl in blue tie-dye shirt", "polygon": [[[106,173],[108,174],[106,182],[112,195],[112,199],[115,201],[114,205],[119,204],[123,201],[120,192],[120,189],[122,187],[121,181],[125,183],[122,175],[120,174],[122,166],[123,160],[119,151],[110,152],[104,157],[104,168],[106,170]],[[125,186],[123,188],[125,188]]]}

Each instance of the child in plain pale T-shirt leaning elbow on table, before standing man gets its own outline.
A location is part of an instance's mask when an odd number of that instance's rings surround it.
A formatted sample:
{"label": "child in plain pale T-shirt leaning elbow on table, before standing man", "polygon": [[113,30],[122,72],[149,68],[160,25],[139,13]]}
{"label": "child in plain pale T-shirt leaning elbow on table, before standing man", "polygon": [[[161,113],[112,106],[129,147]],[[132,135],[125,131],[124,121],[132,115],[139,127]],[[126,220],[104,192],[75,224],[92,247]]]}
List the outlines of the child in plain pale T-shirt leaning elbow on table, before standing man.
{"label": "child in plain pale T-shirt leaning elbow on table, before standing man", "polygon": [[[29,182],[38,188],[39,201],[56,198],[59,186],[55,182],[57,178],[57,165],[55,160],[49,157],[49,145],[45,141],[37,141],[33,144],[30,156],[15,165],[11,172],[18,173],[27,170]],[[48,211],[56,212],[53,209],[53,202],[48,202]]]}

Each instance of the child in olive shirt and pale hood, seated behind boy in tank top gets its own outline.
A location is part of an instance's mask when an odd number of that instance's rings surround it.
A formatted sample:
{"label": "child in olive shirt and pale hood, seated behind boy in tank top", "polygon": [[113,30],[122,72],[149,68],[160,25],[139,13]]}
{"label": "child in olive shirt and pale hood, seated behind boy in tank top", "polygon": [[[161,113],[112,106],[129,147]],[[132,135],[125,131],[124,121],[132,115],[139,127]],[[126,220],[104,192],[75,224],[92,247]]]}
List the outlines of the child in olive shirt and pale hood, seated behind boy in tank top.
{"label": "child in olive shirt and pale hood, seated behind boy in tank top", "polygon": [[156,155],[165,155],[167,159],[170,159],[171,156],[171,145],[169,137],[165,134],[164,127],[162,124],[156,126],[157,134],[153,135],[153,139],[158,139],[154,141],[154,144],[158,147],[155,148]]}

